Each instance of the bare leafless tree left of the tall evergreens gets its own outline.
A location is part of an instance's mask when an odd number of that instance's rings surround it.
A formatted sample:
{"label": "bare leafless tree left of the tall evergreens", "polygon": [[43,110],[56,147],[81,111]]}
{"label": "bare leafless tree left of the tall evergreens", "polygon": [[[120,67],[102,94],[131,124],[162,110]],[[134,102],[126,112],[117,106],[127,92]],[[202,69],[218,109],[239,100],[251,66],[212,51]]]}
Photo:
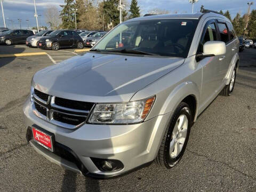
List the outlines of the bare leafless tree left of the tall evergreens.
{"label": "bare leafless tree left of the tall evergreens", "polygon": [[60,15],[59,15],[59,11],[57,9],[56,6],[48,6],[45,10],[44,13],[45,16],[45,22],[49,23],[49,26],[51,29],[58,29],[60,24],[61,24],[61,20],[60,20]]}

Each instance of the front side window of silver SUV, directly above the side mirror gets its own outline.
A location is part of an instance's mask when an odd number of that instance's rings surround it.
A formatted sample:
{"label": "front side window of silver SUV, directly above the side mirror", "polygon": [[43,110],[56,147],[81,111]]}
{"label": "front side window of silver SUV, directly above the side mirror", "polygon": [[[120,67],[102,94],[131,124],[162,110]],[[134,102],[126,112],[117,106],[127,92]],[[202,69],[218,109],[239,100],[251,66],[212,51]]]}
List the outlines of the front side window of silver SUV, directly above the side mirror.
{"label": "front side window of silver SUV, directly above the side mirror", "polygon": [[214,23],[207,26],[204,37],[201,38],[201,42],[198,46],[197,53],[203,53],[203,46],[208,41],[218,41],[217,30]]}

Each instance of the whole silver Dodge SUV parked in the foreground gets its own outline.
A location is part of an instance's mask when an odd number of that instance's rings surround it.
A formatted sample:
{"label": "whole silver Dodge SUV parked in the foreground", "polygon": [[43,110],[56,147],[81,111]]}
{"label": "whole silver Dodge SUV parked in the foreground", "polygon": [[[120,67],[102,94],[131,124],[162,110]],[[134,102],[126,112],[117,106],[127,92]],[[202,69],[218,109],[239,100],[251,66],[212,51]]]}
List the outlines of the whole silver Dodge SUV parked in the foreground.
{"label": "whole silver Dodge SUV parked in the foreground", "polygon": [[89,53],[34,75],[26,138],[50,161],[91,177],[154,160],[169,169],[197,116],[233,92],[238,47],[230,21],[210,11],[125,21]]}

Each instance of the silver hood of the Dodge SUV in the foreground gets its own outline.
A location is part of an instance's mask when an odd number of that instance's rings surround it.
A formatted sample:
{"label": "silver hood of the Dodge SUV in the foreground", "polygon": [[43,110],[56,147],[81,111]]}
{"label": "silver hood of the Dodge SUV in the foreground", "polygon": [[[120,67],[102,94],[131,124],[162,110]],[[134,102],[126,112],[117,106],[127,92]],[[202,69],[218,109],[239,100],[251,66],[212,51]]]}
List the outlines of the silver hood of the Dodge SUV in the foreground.
{"label": "silver hood of the Dodge SUV in the foreground", "polygon": [[32,85],[66,99],[127,102],[134,93],[182,65],[184,60],[90,52],[38,71]]}

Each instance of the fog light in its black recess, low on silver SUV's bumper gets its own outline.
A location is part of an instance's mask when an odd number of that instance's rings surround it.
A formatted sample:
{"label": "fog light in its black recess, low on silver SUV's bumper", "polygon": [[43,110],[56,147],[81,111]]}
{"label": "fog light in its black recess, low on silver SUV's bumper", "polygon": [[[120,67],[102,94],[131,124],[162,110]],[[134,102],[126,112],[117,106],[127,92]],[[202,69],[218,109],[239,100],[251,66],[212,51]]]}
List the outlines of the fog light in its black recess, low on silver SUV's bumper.
{"label": "fog light in its black recess, low on silver SUV's bumper", "polygon": [[113,172],[119,171],[124,168],[124,165],[121,161],[116,159],[100,159],[91,157],[92,162],[97,166],[97,168],[102,172]]}

